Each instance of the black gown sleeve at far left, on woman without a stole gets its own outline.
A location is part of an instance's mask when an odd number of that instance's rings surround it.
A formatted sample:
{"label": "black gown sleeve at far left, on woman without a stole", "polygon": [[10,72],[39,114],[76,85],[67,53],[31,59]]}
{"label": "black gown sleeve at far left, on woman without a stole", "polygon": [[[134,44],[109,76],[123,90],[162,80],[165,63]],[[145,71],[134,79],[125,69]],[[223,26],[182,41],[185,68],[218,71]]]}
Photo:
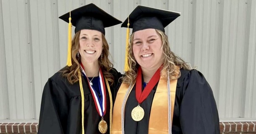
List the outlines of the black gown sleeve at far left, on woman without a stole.
{"label": "black gown sleeve at far left, on woman without a stole", "polygon": [[65,134],[68,117],[66,93],[49,79],[44,86],[38,134]]}

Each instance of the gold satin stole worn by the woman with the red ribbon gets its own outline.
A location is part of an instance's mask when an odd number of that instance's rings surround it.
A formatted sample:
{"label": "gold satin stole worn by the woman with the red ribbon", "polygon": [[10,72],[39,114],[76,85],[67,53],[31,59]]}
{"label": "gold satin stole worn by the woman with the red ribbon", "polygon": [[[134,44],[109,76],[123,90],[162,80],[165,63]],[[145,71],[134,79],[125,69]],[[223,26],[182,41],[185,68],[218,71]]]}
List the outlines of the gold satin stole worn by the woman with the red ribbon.
{"label": "gold satin stole worn by the woman with the red ribbon", "polygon": [[[173,117],[173,111],[174,111],[177,81],[178,80],[170,81],[172,117]],[[111,134],[122,134],[121,109],[122,109],[122,103],[128,88],[129,88],[128,84],[122,83],[122,85],[118,90],[117,97],[115,99],[114,109],[113,109],[113,124],[112,124]],[[167,90],[168,90],[167,81],[165,80],[164,77],[160,77],[160,80],[157,85],[157,90],[153,98],[151,111],[150,111],[149,134],[168,134]],[[125,100],[125,102],[126,101],[127,100]]]}

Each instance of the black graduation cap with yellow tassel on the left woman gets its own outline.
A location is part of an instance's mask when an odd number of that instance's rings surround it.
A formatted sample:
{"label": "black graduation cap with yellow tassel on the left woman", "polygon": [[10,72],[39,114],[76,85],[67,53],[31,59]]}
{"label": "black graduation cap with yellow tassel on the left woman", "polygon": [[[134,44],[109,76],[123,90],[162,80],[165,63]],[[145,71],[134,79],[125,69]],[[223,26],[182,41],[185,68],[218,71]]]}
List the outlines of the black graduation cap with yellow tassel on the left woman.
{"label": "black graduation cap with yellow tassel on the left woman", "polygon": [[[105,29],[122,23],[112,15],[108,14],[93,3],[76,8],[59,17],[68,23],[68,60],[67,65],[71,66],[71,25],[75,26],[75,33],[82,29],[100,31],[105,35]],[[72,18],[72,19],[71,19]]]}

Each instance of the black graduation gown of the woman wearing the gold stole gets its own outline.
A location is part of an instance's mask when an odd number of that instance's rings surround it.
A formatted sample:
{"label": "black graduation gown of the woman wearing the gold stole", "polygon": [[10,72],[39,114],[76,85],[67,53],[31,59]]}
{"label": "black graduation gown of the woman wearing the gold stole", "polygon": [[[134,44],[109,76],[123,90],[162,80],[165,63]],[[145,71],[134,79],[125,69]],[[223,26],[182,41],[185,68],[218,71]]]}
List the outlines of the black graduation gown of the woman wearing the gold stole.
{"label": "black graduation gown of the woman wearing the gold stole", "polygon": [[[172,134],[219,134],[219,115],[208,82],[197,70],[181,69],[180,72],[181,77],[178,79],[176,88]],[[138,106],[135,87],[125,104],[125,134],[148,134],[150,109],[157,85],[140,104],[145,115],[138,122],[131,118],[131,111]]]}

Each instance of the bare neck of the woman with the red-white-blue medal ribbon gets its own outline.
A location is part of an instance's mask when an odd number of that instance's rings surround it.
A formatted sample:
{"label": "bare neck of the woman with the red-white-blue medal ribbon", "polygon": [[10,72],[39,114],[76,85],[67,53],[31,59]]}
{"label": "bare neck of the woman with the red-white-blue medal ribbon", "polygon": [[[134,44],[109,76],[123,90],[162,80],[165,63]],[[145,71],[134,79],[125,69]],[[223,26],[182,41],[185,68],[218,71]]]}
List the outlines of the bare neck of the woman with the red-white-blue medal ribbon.
{"label": "bare neck of the woman with the red-white-blue medal ribbon", "polygon": [[[99,76],[99,63],[83,63],[84,72],[87,77],[97,77]],[[95,75],[96,74],[96,75]]]}

